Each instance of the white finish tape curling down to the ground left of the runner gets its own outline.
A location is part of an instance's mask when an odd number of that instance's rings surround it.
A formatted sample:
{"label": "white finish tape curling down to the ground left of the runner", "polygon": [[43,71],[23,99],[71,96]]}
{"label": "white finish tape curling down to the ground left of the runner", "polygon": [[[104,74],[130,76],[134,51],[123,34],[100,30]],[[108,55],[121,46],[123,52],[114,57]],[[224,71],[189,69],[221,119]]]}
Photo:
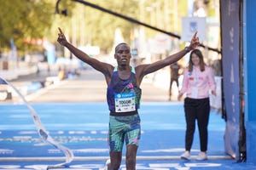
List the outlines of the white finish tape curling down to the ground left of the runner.
{"label": "white finish tape curling down to the ground left of the runner", "polygon": [[[51,145],[53,145],[55,148],[61,150],[65,156],[66,156],[66,161],[60,164],[55,164],[55,165],[48,165],[46,167],[46,169],[51,169],[51,168],[60,168],[60,167],[65,167],[68,163],[70,163],[71,161],[73,161],[73,151],[69,150],[67,147],[57,143],[50,135],[49,133],[47,133],[47,131],[44,128],[43,123],[40,120],[40,117],[38,116],[38,113],[33,109],[32,105],[30,105],[25,97],[20,93],[20,91],[15,88],[14,85],[12,85],[10,82],[4,80],[2,77],[0,77],[0,84],[6,84],[9,85],[11,88],[13,88],[15,90],[15,92],[20,96],[20,99],[22,99],[22,101],[24,102],[24,104],[28,107],[28,109],[30,110],[31,114],[32,114],[32,119],[34,124],[37,127],[38,130],[38,135],[40,136],[41,139],[44,140],[44,142],[47,142]],[[35,169],[42,169],[42,167],[38,167]],[[45,169],[45,168],[43,168]]]}

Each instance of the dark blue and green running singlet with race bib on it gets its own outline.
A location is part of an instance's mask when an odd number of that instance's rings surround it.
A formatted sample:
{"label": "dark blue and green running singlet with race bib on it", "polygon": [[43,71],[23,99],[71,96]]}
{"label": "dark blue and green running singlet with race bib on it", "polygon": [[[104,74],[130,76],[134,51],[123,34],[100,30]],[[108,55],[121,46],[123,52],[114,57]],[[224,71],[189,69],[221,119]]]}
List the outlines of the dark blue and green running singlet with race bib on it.
{"label": "dark blue and green running singlet with race bib on it", "polygon": [[117,69],[113,71],[108,85],[108,109],[113,116],[134,115],[140,107],[142,90],[137,86],[135,69],[132,67],[131,76],[120,79]]}

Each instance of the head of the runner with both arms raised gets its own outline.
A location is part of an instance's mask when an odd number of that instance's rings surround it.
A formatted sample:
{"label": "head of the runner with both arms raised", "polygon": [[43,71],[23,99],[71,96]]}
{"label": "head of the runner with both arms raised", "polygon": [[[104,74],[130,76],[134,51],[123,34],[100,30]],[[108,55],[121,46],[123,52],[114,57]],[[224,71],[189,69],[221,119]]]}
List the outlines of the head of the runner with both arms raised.
{"label": "head of the runner with both arms raised", "polygon": [[120,44],[115,51],[114,58],[118,65],[129,65],[131,59],[131,50],[127,44]]}

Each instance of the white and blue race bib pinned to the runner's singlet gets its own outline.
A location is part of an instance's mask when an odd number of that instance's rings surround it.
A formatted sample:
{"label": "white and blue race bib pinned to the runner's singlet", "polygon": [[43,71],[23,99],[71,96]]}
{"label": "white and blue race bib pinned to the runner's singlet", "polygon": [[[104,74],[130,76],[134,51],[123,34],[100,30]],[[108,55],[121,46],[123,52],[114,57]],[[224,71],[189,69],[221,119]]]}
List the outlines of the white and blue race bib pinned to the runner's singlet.
{"label": "white and blue race bib pinned to the runner's singlet", "polygon": [[114,94],[114,102],[116,112],[136,111],[134,92]]}

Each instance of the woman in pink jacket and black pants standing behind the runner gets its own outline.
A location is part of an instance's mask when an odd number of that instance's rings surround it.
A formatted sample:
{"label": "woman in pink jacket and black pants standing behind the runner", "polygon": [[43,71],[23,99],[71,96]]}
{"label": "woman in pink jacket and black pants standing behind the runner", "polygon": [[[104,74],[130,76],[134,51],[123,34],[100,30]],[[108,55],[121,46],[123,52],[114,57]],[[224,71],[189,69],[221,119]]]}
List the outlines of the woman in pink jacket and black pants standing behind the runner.
{"label": "woman in pink jacket and black pants standing behind the runner", "polygon": [[178,98],[186,94],[184,99],[184,112],[186,118],[186,136],[185,136],[185,152],[181,156],[182,159],[190,159],[190,150],[192,147],[195,121],[200,136],[201,152],[197,156],[197,160],[207,160],[207,144],[208,144],[208,122],[210,114],[209,91],[216,95],[216,83],[212,68],[204,62],[203,55],[199,49],[194,49],[190,53],[189,66],[183,71],[183,86],[180,90]]}

